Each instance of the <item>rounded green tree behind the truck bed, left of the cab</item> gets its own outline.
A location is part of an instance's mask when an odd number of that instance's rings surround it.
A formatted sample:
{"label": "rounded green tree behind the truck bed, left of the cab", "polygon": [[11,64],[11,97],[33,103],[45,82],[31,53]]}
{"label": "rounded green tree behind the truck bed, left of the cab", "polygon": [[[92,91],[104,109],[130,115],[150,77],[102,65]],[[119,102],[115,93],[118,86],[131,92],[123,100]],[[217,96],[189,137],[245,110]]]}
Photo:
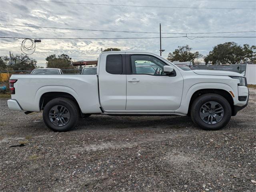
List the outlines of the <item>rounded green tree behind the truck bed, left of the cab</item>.
{"label": "rounded green tree behind the truck bed, left of the cab", "polygon": [[46,57],[45,59],[47,68],[60,68],[60,69],[72,69],[71,60],[67,54],[61,54],[56,56],[55,54]]}

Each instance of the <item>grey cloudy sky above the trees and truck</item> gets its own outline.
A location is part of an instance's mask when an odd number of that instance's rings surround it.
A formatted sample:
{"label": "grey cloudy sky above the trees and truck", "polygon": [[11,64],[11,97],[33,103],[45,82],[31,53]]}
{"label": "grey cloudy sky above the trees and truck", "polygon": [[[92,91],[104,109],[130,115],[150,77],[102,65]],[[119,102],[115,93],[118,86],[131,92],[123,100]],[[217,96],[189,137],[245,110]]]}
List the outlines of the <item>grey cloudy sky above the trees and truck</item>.
{"label": "grey cloudy sky above the trees and truck", "polygon": [[[199,8],[254,8],[254,10],[145,8],[0,0],[0,24],[159,32],[159,23],[161,23],[162,32],[256,31],[256,2],[210,0],[63,0],[62,2]],[[159,34],[0,26],[0,36],[28,38],[121,38],[158,37]],[[162,34],[162,36],[183,35]],[[256,33],[200,34],[197,36],[256,36]],[[186,44],[192,47],[193,51],[199,51],[201,54],[206,55],[212,50],[213,46],[229,41],[234,41],[241,45],[256,45],[256,38],[195,38],[194,40],[188,38],[164,38],[162,39],[162,49],[166,51],[163,53],[163,56],[166,58],[168,52],[174,51],[177,46]],[[0,38],[0,55],[7,55],[9,51],[14,54],[20,54],[21,42],[22,40],[20,39]],[[95,60],[100,53],[100,48],[116,47],[121,50],[140,50],[159,54],[159,46],[159,39],[42,40],[41,43],[36,44],[36,51],[31,57],[38,61],[39,66],[45,66],[45,58],[50,54],[65,53],[72,57],[74,61]]]}

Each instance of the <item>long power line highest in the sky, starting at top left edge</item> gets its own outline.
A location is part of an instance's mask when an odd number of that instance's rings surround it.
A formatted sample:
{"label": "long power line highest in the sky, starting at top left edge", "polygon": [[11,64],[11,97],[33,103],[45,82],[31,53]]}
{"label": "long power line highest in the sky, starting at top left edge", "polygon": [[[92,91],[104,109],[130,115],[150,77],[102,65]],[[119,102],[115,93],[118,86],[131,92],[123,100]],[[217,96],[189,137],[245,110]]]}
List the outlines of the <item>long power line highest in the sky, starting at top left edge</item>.
{"label": "long power line highest in the sky, starting at top left edge", "polygon": [[50,2],[50,3],[67,3],[67,4],[84,4],[84,5],[100,5],[100,6],[122,6],[122,7],[145,7],[145,8],[177,8],[177,9],[228,9],[228,10],[255,10],[256,8],[216,8],[216,7],[169,7],[169,6],[142,6],[142,5],[120,5],[120,4],[99,4],[99,3],[80,3],[80,2],[64,2],[64,1],[43,1],[43,0],[26,0],[33,2]]}

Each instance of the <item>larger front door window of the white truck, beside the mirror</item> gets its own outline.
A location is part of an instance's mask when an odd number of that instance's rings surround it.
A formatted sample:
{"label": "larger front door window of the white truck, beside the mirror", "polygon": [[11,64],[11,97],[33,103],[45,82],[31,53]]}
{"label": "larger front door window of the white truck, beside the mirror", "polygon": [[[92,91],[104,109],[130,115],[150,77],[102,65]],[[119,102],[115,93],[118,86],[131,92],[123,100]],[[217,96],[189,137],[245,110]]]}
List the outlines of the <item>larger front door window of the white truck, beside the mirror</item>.
{"label": "larger front door window of the white truck, beside the mirror", "polygon": [[149,55],[132,55],[132,74],[148,74],[154,76],[164,76],[164,62]]}

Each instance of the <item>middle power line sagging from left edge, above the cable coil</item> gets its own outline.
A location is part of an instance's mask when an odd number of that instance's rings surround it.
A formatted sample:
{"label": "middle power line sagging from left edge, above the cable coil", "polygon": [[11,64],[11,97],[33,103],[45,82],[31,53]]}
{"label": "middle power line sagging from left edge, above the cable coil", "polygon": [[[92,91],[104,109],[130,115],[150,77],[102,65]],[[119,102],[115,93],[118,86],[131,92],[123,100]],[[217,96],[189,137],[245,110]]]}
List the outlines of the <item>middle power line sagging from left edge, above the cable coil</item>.
{"label": "middle power line sagging from left edge, above the cable coil", "polygon": [[[27,26],[27,25],[10,25],[0,24],[2,26],[16,26],[16,27],[32,27],[32,28],[47,28],[47,29],[64,29],[64,30],[83,30],[83,31],[101,31],[101,32],[124,32],[124,33],[149,33],[159,34],[159,32],[138,32],[138,31],[114,31],[114,30],[95,30],[95,29],[79,29],[79,28],[60,28],[60,27],[43,27],[43,26]],[[206,32],[206,33],[162,33],[162,34],[221,34],[221,33],[250,33],[256,31],[233,31],[233,32]]]}

